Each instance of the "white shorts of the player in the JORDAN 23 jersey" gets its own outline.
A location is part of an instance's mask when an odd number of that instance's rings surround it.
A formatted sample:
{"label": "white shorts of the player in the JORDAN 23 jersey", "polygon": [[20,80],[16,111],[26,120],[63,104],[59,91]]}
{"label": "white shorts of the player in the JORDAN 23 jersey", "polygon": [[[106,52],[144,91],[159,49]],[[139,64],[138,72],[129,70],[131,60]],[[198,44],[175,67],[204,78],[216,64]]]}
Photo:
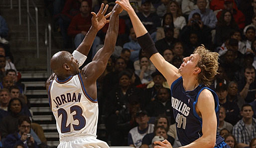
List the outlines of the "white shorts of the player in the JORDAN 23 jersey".
{"label": "white shorts of the player in the JORDAN 23 jersey", "polygon": [[104,141],[96,139],[94,136],[79,136],[65,138],[60,141],[58,148],[110,148]]}

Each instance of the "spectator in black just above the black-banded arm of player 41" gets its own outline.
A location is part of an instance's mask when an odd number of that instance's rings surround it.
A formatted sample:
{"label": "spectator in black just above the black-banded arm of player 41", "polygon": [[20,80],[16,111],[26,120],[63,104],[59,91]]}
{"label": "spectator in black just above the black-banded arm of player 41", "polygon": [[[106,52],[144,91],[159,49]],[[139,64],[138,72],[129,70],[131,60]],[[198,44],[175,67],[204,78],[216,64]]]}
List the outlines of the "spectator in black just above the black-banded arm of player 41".
{"label": "spectator in black just above the black-banded arm of player 41", "polygon": [[172,49],[173,44],[177,41],[173,36],[173,27],[166,26],[164,27],[164,35],[163,39],[160,39],[155,42],[155,47],[158,52],[163,52],[164,49]]}

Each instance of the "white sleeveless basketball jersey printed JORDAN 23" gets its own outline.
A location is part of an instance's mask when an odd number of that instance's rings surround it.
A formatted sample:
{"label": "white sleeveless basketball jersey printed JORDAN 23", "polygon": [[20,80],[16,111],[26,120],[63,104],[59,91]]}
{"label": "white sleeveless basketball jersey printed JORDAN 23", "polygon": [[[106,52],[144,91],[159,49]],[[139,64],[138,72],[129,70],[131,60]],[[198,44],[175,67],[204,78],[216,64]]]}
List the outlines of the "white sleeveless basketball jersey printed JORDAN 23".
{"label": "white sleeveless basketball jersey printed JORDAN 23", "polygon": [[48,96],[60,139],[79,134],[96,136],[98,102],[87,94],[81,74],[63,81],[56,78],[50,84]]}

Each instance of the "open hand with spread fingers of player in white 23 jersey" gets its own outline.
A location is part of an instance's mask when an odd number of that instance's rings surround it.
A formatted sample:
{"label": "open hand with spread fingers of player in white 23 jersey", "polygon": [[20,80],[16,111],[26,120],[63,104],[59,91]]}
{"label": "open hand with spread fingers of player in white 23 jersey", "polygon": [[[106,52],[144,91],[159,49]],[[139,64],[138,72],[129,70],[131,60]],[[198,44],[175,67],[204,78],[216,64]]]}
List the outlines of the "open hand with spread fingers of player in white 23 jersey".
{"label": "open hand with spread fingers of player in white 23 jersey", "polygon": [[91,12],[93,14],[92,17],[92,26],[95,27],[98,31],[104,27],[104,25],[106,23],[108,23],[110,20],[107,20],[108,17],[110,17],[111,12],[107,15],[105,15],[105,13],[107,12],[107,9],[109,7],[108,4],[106,4],[105,8],[104,7],[104,3],[101,4],[101,8],[99,10],[99,12],[96,14],[95,12]]}

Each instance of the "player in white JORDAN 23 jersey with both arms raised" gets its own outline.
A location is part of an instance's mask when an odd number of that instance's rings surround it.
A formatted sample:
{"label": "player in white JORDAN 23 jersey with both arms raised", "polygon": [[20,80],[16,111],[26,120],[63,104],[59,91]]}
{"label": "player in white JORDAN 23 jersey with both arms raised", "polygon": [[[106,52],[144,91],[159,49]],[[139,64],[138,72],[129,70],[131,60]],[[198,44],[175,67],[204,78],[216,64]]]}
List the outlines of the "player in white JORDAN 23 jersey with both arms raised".
{"label": "player in white JORDAN 23 jersey with both arms raised", "polygon": [[[92,12],[92,26],[80,46],[73,52],[55,53],[51,58],[54,74],[46,82],[49,104],[54,114],[60,136],[58,148],[109,148],[96,139],[98,103],[96,80],[104,72],[108,59],[114,52],[119,30],[119,14],[122,7],[116,4],[107,14],[108,5],[97,15]],[[106,20],[110,16],[110,20]],[[110,22],[105,44],[82,70],[97,32]]]}

